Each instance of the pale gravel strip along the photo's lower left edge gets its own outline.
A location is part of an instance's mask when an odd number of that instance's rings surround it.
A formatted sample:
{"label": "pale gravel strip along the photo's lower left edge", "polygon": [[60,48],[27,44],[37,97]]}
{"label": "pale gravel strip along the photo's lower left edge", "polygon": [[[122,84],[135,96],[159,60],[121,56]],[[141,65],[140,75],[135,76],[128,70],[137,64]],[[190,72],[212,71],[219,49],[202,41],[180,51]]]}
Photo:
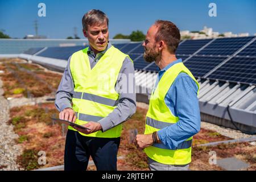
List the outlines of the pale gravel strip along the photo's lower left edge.
{"label": "pale gravel strip along the photo's lower left edge", "polygon": [[19,135],[13,131],[13,125],[9,125],[9,104],[2,96],[2,81],[0,80],[0,170],[2,171],[18,171],[20,166],[16,164],[17,156],[22,154],[22,147],[15,143],[15,139]]}

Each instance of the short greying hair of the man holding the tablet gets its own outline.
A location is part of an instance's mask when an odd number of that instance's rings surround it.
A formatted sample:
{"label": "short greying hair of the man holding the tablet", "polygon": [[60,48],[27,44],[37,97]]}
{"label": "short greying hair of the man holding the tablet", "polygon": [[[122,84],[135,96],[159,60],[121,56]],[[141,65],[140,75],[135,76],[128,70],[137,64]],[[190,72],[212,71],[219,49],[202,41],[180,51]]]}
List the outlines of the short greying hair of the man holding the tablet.
{"label": "short greying hair of the man holding the tablet", "polygon": [[84,30],[87,30],[88,24],[90,26],[98,23],[101,24],[104,23],[105,20],[109,26],[109,19],[105,13],[103,13],[101,10],[90,10],[85,13],[84,16],[82,16],[82,28],[84,28]]}

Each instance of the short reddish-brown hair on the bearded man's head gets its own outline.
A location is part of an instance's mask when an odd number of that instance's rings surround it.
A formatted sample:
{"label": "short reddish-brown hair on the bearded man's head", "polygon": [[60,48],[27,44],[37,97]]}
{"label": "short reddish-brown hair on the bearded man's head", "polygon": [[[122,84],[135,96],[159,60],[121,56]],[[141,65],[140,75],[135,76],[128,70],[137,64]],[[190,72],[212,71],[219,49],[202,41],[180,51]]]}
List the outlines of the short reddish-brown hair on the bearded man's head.
{"label": "short reddish-brown hair on the bearded man's head", "polygon": [[156,20],[155,26],[158,27],[158,32],[155,35],[155,41],[163,40],[170,53],[175,53],[180,43],[180,31],[176,25],[166,20]]}

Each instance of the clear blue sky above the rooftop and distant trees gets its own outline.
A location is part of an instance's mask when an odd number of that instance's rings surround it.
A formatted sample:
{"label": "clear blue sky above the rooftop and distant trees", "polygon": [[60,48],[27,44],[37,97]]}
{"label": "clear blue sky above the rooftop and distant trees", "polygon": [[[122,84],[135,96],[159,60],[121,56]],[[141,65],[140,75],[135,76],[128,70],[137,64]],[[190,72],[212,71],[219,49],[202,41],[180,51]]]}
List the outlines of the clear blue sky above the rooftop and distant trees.
{"label": "clear blue sky above the rooftop and distant trees", "polygon": [[[46,4],[46,17],[38,16],[40,2]],[[217,17],[208,15],[211,2],[217,5]],[[218,32],[256,33],[255,0],[0,0],[0,30],[12,38],[23,38],[35,34],[34,21],[38,20],[39,35],[67,38],[77,27],[78,36],[84,38],[81,18],[90,9],[100,9],[108,15],[110,38],[118,33],[129,35],[134,30],[146,34],[156,19],[170,20],[180,30],[196,31],[207,26]]]}

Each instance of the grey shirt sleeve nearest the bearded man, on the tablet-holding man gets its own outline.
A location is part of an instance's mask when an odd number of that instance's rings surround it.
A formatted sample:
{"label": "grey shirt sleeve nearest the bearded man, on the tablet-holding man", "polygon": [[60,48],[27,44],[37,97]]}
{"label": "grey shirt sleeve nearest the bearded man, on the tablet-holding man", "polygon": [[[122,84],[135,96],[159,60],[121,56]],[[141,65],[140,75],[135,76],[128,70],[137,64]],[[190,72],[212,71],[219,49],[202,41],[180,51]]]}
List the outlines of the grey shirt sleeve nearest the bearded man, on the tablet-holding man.
{"label": "grey shirt sleeve nearest the bearded man, on the tablet-holding man", "polygon": [[103,132],[127,121],[135,113],[136,93],[134,75],[133,62],[126,57],[115,85],[115,90],[119,93],[117,107],[107,117],[99,121]]}

